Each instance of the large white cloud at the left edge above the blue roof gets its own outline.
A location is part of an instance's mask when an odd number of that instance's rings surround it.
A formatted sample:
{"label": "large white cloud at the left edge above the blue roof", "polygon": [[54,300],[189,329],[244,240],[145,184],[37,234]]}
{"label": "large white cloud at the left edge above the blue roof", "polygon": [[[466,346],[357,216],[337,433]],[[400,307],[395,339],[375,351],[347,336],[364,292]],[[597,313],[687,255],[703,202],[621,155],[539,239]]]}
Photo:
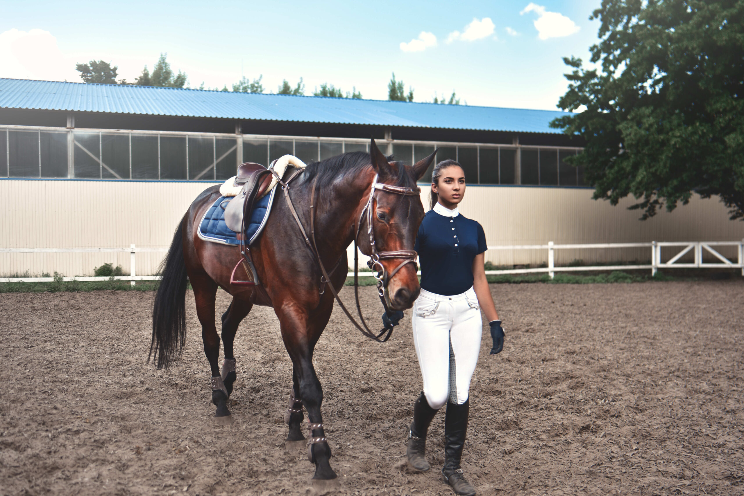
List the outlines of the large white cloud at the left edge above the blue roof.
{"label": "large white cloud at the left edge above the blue roof", "polygon": [[15,28],[0,33],[0,77],[18,79],[77,80],[71,59],[66,58],[49,31]]}

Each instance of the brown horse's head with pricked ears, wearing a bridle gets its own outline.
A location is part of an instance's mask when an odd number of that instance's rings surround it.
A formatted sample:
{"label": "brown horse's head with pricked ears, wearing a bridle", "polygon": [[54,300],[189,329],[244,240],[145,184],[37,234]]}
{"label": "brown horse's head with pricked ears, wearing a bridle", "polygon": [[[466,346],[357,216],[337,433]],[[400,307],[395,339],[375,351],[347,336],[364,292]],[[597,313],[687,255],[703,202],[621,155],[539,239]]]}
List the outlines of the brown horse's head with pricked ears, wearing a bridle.
{"label": "brown horse's head with pricked ears, wearing a bridle", "polygon": [[382,277],[385,301],[392,310],[411,308],[420,292],[414,243],[424,211],[416,181],[436,153],[411,167],[388,163],[374,140],[370,144],[376,179],[371,196],[365,197],[356,239],[362,252],[372,257],[371,268]]}

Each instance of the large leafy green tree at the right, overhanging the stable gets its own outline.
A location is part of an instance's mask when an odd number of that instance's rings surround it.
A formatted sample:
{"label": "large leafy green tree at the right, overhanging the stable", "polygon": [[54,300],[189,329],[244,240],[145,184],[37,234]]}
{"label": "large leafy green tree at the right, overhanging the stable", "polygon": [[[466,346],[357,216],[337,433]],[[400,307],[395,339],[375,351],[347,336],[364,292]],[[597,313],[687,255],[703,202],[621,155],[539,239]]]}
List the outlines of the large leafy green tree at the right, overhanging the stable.
{"label": "large leafy green tree at the right, overhanging the stable", "polygon": [[718,195],[744,217],[744,1],[603,0],[590,19],[597,68],[564,59],[558,106],[578,112],[551,125],[586,141],[571,162],[594,199],[633,195],[646,219]]}

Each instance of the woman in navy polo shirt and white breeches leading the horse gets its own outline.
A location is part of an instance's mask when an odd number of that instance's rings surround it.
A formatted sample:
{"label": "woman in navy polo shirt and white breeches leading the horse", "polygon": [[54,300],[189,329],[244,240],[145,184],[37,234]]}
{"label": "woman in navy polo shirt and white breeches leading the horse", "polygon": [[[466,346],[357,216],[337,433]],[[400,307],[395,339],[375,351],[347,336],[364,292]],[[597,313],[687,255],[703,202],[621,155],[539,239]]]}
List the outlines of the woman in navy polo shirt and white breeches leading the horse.
{"label": "woman in navy polo shirt and white breeches leading the horse", "polygon": [[483,228],[458,212],[464,194],[465,173],[460,164],[455,160],[438,163],[432,173],[432,209],[424,216],[415,247],[421,263],[421,293],[414,304],[413,334],[423,391],[414,402],[406,454],[414,469],[429,470],[424,457],[426,432],[434,414],[446,403],[442,473],[455,493],[475,495],[460,458],[470,378],[481,348],[481,310],[490,321],[491,354],[504,346],[504,331],[486,280]]}

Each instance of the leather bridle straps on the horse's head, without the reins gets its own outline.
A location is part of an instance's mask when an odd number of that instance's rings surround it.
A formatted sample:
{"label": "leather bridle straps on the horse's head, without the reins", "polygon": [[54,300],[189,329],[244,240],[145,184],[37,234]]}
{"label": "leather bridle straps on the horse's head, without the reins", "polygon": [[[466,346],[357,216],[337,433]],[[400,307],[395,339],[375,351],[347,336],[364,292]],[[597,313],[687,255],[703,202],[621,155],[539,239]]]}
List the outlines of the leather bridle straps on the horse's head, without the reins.
{"label": "leather bridle straps on the horse's head, without the reins", "polygon": [[[416,265],[416,258],[418,256],[417,252],[414,252],[412,249],[398,249],[393,252],[378,252],[377,247],[374,241],[374,219],[373,219],[373,212],[372,212],[372,201],[376,200],[375,198],[375,192],[376,191],[385,191],[388,193],[394,193],[395,195],[404,195],[404,196],[418,196],[421,193],[420,188],[406,188],[405,186],[391,186],[390,184],[385,183],[378,183],[378,174],[375,174],[374,179],[372,180],[372,186],[370,191],[369,199],[367,200],[367,203],[365,204],[365,208],[362,209],[362,213],[359,215],[359,223],[356,227],[356,233],[354,235],[354,275],[356,277],[356,271],[357,271],[357,264],[358,262],[358,255],[357,255],[357,245],[356,240],[359,238],[359,232],[362,231],[362,218],[364,218],[365,213],[367,214],[367,235],[369,236],[370,240],[370,250],[371,253],[365,253],[368,257],[370,257],[369,261],[367,262],[368,267],[373,271],[374,278],[377,281],[377,293],[379,294],[380,298],[385,297],[385,287],[388,286],[388,282],[390,282],[391,278],[393,278],[394,275],[397,274],[397,272],[401,269],[403,269],[403,266],[405,264],[414,264]],[[403,261],[394,268],[390,273],[385,269],[385,266],[382,265],[380,262],[381,260],[389,260],[391,258],[398,258],[403,259]],[[382,304],[385,305],[385,311],[388,311],[388,305],[385,304],[385,300],[383,299]]]}

